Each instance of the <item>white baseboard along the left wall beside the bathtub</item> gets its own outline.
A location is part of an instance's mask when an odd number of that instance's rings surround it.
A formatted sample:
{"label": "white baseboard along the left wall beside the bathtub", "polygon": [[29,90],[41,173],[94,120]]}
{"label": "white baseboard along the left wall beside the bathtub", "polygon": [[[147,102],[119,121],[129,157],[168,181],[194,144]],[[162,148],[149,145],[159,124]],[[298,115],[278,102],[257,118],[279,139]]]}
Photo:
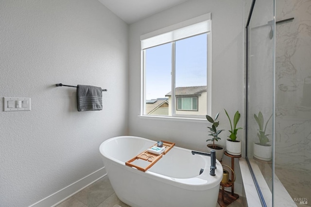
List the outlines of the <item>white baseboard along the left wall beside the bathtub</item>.
{"label": "white baseboard along the left wall beside the bathtub", "polygon": [[29,207],[55,207],[63,201],[67,200],[72,195],[77,192],[85,189],[87,186],[96,182],[98,179],[104,177],[106,175],[106,171],[103,168],[91,173],[84,178],[70,184],[69,186],[63,188],[62,190],[58,190],[57,192],[49,195],[48,197],[42,199],[41,201],[36,202],[35,204]]}

